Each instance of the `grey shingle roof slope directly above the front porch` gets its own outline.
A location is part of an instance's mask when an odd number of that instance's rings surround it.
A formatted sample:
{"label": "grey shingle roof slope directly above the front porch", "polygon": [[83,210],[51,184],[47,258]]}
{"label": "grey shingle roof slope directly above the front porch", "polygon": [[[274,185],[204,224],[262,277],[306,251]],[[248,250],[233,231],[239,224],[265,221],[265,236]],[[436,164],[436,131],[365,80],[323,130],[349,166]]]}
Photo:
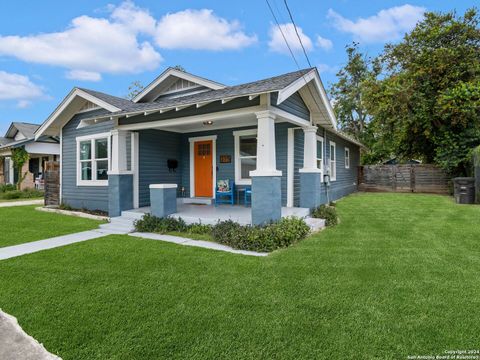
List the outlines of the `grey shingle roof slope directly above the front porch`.
{"label": "grey shingle roof slope directly above the front porch", "polygon": [[260,94],[265,92],[278,91],[290,85],[295,80],[299,79],[310,72],[312,68],[294,71],[291,73],[274,76],[271,78],[253,81],[246,84],[227,86],[219,90],[208,90],[201,93],[186,95],[177,98],[159,99],[150,103],[135,103],[130,100],[121,99],[115,96],[104,94],[98,91],[81,89],[89,94],[98,97],[101,100],[108,102],[121,109],[114,113],[108,113],[111,116],[119,116],[136,111],[148,111],[153,109],[162,109],[176,106],[183,106],[188,104],[196,104],[201,102],[216,101],[230,97],[246,96],[250,94]]}

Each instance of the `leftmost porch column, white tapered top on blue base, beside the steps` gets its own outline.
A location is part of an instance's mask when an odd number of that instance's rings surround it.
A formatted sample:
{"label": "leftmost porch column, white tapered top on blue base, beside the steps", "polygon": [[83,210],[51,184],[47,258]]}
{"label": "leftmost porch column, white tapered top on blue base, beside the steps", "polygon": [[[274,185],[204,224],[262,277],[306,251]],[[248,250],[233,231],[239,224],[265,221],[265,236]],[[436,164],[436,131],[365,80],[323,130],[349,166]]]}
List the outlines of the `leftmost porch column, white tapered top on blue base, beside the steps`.
{"label": "leftmost porch column, white tapered top on blue base, beside the steps", "polygon": [[133,208],[133,172],[127,168],[127,136],[130,132],[111,131],[111,163],[108,172],[108,214],[120,216]]}

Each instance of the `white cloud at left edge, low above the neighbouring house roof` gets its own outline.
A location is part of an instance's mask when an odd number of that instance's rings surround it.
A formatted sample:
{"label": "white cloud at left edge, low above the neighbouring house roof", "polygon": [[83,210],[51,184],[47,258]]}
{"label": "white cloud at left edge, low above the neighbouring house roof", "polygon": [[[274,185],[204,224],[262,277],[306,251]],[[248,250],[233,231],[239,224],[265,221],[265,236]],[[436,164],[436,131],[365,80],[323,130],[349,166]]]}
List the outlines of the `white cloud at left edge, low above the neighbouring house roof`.
{"label": "white cloud at left edge, low above the neighbouring house roof", "polygon": [[31,100],[44,96],[42,87],[34,84],[28,76],[0,70],[0,101],[14,100],[18,107],[25,108]]}

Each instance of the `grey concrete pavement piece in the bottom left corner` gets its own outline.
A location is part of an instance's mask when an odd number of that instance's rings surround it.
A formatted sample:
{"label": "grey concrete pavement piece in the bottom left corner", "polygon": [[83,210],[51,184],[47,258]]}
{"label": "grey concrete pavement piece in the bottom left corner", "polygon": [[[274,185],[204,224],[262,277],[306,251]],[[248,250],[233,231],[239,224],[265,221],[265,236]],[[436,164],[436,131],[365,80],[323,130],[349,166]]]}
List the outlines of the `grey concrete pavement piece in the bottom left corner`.
{"label": "grey concrete pavement piece in the bottom left corner", "polygon": [[61,360],[18,325],[17,319],[0,310],[0,359]]}

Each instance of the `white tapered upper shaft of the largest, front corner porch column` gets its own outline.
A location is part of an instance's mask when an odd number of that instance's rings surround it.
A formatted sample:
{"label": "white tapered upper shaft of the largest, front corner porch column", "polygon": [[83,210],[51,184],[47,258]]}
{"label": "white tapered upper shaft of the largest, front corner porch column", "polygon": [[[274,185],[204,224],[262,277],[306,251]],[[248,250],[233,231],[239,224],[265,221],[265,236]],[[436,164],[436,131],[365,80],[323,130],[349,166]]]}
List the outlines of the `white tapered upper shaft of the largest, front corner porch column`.
{"label": "white tapered upper shaft of the largest, front corner porch column", "polygon": [[275,115],[270,111],[259,111],[257,131],[257,169],[250,176],[282,176],[277,170],[275,157]]}

